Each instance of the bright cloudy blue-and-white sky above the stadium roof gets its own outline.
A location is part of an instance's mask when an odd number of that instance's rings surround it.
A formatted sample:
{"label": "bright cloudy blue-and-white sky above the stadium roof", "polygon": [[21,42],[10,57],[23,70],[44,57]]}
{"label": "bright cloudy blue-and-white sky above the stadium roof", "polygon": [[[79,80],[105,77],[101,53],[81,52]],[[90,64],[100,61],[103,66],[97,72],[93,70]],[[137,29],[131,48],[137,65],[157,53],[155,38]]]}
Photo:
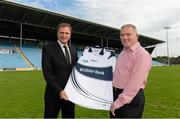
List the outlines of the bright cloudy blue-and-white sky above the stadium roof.
{"label": "bright cloudy blue-and-white sky above the stadium roof", "polygon": [[[139,34],[167,41],[169,56],[180,56],[180,0],[8,0],[87,21],[120,28],[134,24]],[[153,57],[167,56],[167,42]]]}

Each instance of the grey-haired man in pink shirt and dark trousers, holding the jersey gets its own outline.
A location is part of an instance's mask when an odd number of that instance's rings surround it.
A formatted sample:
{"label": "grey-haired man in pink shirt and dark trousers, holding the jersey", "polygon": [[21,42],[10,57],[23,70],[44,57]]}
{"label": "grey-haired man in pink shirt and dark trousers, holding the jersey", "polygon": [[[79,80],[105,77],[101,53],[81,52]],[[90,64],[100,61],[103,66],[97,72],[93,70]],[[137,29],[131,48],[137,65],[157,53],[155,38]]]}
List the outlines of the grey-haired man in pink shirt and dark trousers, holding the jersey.
{"label": "grey-haired man in pink shirt and dark trousers, holding the jersey", "polygon": [[138,36],[134,25],[121,27],[120,39],[124,50],[117,58],[113,74],[111,118],[141,118],[143,114],[151,55],[140,45]]}

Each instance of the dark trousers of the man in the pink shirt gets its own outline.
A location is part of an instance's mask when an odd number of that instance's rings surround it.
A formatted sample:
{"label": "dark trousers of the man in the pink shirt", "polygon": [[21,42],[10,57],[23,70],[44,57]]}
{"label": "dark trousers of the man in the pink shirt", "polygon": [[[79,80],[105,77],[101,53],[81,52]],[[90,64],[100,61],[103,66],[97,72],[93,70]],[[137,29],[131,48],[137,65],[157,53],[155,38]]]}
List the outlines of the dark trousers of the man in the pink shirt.
{"label": "dark trousers of the man in the pink shirt", "polygon": [[[123,89],[113,88],[113,100],[115,101]],[[144,90],[140,89],[131,103],[125,104],[115,110],[115,116],[110,112],[110,118],[142,118],[145,104]]]}

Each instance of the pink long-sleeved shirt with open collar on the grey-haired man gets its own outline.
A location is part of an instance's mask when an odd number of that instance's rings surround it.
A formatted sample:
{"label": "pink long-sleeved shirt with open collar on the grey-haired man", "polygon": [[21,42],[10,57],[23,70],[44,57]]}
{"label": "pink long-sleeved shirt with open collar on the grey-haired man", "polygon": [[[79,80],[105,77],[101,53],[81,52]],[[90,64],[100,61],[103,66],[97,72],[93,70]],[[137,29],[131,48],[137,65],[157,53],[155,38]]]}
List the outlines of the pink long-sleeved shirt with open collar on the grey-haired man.
{"label": "pink long-sleeved shirt with open collar on the grey-haired man", "polygon": [[113,103],[116,109],[130,103],[139,89],[145,88],[151,63],[151,55],[139,42],[120,53],[113,74],[113,87],[124,90]]}

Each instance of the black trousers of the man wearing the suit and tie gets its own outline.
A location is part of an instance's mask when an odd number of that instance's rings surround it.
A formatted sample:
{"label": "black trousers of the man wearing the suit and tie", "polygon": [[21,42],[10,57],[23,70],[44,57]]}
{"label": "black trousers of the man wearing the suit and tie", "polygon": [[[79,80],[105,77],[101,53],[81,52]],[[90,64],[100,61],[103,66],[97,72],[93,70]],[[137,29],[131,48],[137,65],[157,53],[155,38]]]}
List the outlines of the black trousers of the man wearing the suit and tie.
{"label": "black trousers of the man wearing the suit and tie", "polygon": [[61,110],[62,118],[75,118],[75,104],[70,101],[45,101],[44,118],[57,118]]}

